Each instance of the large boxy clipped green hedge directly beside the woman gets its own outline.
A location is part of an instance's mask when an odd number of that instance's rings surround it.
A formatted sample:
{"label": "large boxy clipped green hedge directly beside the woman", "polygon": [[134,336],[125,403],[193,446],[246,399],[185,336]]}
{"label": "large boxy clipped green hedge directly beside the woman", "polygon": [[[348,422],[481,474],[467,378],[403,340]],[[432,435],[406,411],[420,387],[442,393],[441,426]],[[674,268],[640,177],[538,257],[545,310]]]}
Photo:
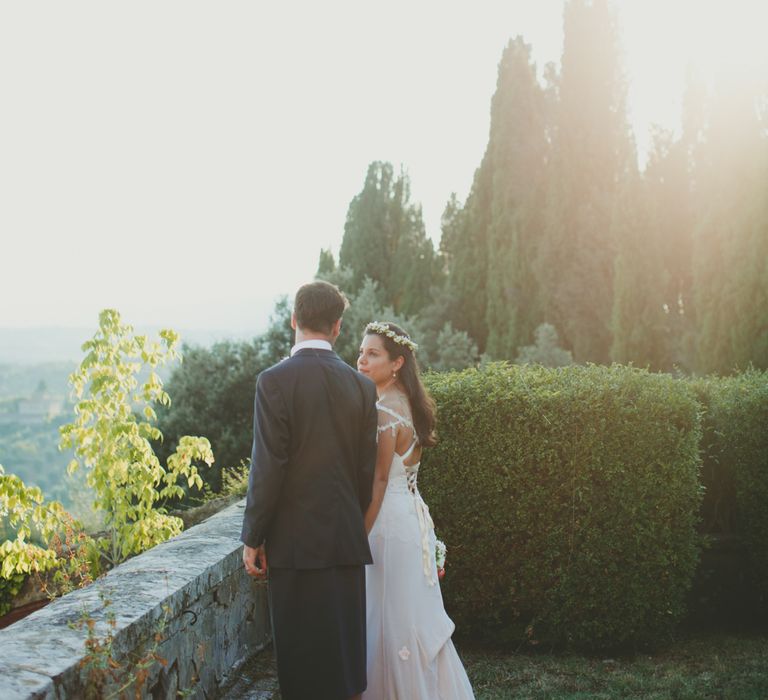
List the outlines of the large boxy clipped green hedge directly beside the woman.
{"label": "large boxy clipped green hedge directly beside the woman", "polygon": [[630,367],[427,375],[439,444],[420,488],[459,630],[601,648],[684,613],[698,558],[700,405]]}

